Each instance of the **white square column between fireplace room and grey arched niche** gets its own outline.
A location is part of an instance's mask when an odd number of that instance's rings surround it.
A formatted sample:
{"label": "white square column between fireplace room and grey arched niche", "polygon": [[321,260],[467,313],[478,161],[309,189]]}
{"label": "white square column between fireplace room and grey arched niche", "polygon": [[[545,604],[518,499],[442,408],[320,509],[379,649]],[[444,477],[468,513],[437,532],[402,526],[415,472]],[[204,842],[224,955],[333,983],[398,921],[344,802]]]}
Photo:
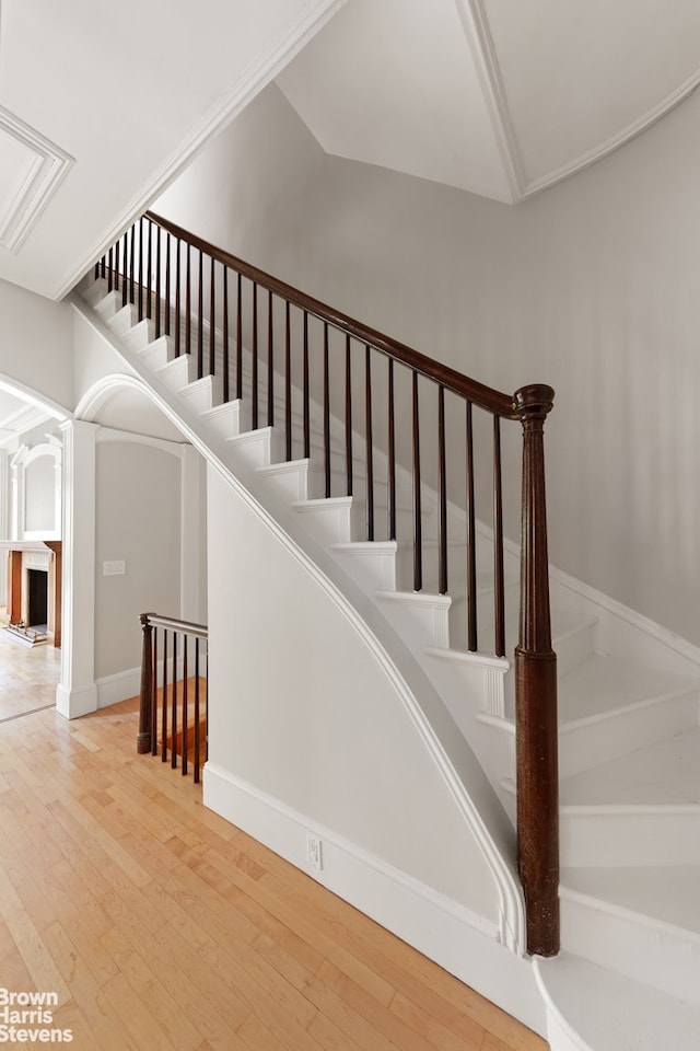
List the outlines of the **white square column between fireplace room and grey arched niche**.
{"label": "white square column between fireplace room and grey arched niche", "polygon": [[95,684],[95,441],[81,419],[63,432],[63,611],[56,707],[68,719],[97,708]]}

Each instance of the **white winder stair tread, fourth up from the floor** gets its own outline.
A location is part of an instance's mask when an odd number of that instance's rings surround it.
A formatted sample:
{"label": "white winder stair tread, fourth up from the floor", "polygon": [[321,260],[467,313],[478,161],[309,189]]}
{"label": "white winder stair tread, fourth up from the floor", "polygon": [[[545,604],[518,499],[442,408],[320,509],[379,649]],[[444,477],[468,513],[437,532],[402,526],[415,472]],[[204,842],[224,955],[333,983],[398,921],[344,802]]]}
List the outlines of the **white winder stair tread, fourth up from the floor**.
{"label": "white winder stair tread, fourth up from the floor", "polygon": [[593,718],[693,688],[699,689],[700,682],[687,675],[592,655],[560,679],[559,721],[565,725]]}

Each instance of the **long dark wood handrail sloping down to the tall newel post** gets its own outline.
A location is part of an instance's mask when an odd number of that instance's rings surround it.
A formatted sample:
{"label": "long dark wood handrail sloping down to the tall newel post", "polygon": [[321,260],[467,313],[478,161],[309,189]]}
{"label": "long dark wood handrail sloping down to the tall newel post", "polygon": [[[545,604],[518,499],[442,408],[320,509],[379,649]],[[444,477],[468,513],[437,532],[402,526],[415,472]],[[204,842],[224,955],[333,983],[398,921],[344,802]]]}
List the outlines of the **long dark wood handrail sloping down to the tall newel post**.
{"label": "long dark wood handrail sloping down to the tall newel post", "polygon": [[198,249],[211,256],[211,258],[228,266],[230,269],[236,270],[238,274],[249,278],[252,281],[255,281],[255,284],[273,292],[294,307],[299,307],[301,310],[306,311],[306,313],[313,314],[313,316],[318,317],[320,321],[325,321],[334,327],[339,328],[359,343],[369,344],[376,350],[381,350],[389,358],[402,362],[402,365],[408,366],[408,368],[413,369],[416,372],[420,372],[421,376],[434,380],[453,393],[468,399],[480,408],[495,413],[505,419],[518,418],[516,407],[517,392],[514,395],[502,394],[500,391],[495,391],[485,383],[479,383],[478,380],[472,380],[456,369],[450,368],[447,365],[434,361],[432,358],[429,358],[428,355],[421,354],[419,350],[413,350],[412,347],[408,347],[397,339],[392,339],[390,336],[377,332],[376,328],[371,328],[361,321],[355,321],[348,314],[332,307],[328,307],[327,303],[323,303],[318,299],[314,299],[313,296],[307,296],[305,292],[300,291],[300,289],[294,288],[293,285],[288,285],[285,281],[279,280],[279,278],[267,274],[257,266],[253,266],[250,263],[240,259],[230,252],[225,252],[223,249],[210,244],[202,238],[189,233],[183,229],[183,227],[171,222],[170,219],[163,219],[162,216],[156,216],[152,211],[147,212],[147,218],[156,222],[163,230],[174,234],[176,238],[187,241],[194,249]]}

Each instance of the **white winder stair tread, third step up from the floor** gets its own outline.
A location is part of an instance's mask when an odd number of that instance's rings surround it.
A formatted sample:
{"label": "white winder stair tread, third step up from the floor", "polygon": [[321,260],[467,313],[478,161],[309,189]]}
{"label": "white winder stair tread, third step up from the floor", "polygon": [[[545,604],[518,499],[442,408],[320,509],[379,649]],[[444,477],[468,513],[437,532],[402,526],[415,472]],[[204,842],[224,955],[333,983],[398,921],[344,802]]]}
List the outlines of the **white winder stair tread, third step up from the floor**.
{"label": "white winder stair tread, third step up from the floor", "polygon": [[562,806],[691,807],[700,812],[700,727],[564,777]]}

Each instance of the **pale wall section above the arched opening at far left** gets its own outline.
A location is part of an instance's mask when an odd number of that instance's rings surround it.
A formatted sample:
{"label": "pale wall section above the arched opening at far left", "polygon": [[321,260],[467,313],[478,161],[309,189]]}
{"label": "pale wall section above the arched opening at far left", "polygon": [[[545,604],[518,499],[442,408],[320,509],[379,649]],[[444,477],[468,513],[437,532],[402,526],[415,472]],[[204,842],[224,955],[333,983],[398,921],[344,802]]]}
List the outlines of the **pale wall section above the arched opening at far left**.
{"label": "pale wall section above the arched opening at far left", "polygon": [[71,310],[0,280],[0,378],[73,407]]}

